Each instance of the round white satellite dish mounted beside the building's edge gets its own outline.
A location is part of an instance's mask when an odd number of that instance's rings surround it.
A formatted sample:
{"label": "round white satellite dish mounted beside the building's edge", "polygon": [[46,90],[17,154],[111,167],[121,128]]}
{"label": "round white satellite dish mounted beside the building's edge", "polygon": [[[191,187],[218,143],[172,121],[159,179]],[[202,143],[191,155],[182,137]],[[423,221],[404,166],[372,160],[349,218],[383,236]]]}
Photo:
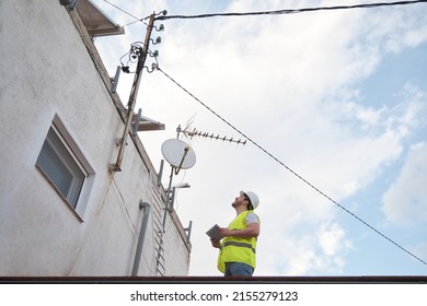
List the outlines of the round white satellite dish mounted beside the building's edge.
{"label": "round white satellite dish mounted beside the building's edge", "polygon": [[169,139],[162,144],[163,157],[175,168],[188,169],[196,164],[196,154],[188,143]]}

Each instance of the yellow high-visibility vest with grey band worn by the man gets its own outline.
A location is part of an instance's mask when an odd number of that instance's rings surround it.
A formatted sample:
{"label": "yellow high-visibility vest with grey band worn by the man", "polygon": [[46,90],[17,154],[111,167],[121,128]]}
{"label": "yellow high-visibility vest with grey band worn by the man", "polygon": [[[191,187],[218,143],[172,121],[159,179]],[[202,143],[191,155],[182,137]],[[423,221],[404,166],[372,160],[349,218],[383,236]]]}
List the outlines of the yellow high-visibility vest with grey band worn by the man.
{"label": "yellow high-visibility vest with grey band worn by the man", "polygon": [[[246,228],[245,219],[247,213],[241,212],[228,226],[229,229]],[[218,270],[226,271],[226,262],[244,262],[255,269],[256,237],[239,238],[234,236],[224,237],[221,240],[221,249],[218,255]]]}

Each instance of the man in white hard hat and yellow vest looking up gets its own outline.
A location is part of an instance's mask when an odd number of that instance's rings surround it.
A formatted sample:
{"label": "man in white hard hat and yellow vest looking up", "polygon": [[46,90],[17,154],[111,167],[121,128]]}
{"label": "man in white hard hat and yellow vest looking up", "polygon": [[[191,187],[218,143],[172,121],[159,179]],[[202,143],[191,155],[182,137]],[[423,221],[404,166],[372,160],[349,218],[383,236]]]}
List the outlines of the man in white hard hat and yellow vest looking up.
{"label": "man in white hard hat and yellow vest looking up", "polygon": [[220,227],[223,237],[220,242],[211,238],[214,247],[219,248],[218,269],[224,276],[252,276],[255,270],[256,239],[259,235],[259,219],[253,212],[259,204],[252,191],[240,191],[231,204],[236,217],[228,227]]}

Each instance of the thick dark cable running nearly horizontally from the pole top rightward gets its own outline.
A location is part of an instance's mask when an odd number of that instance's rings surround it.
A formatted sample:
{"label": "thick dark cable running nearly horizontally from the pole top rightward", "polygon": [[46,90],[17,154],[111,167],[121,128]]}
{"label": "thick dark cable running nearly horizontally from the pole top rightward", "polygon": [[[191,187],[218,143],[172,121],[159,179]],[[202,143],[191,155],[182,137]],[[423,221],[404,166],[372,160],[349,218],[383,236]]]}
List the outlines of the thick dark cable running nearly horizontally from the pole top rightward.
{"label": "thick dark cable running nearly horizontally from the pole top rightward", "polygon": [[392,5],[408,5],[420,2],[427,2],[427,0],[414,0],[414,1],[396,1],[396,2],[379,2],[379,3],[366,3],[366,4],[354,4],[354,5],[337,5],[337,7],[315,7],[315,8],[303,8],[292,10],[276,10],[276,11],[261,11],[261,12],[246,12],[246,13],[212,13],[212,14],[199,14],[199,15],[161,15],[157,16],[155,20],[171,20],[171,19],[205,19],[216,16],[255,16],[255,15],[282,15],[282,14],[296,14],[314,11],[333,11],[333,10],[350,10],[350,9],[371,9],[380,7],[392,7]]}

